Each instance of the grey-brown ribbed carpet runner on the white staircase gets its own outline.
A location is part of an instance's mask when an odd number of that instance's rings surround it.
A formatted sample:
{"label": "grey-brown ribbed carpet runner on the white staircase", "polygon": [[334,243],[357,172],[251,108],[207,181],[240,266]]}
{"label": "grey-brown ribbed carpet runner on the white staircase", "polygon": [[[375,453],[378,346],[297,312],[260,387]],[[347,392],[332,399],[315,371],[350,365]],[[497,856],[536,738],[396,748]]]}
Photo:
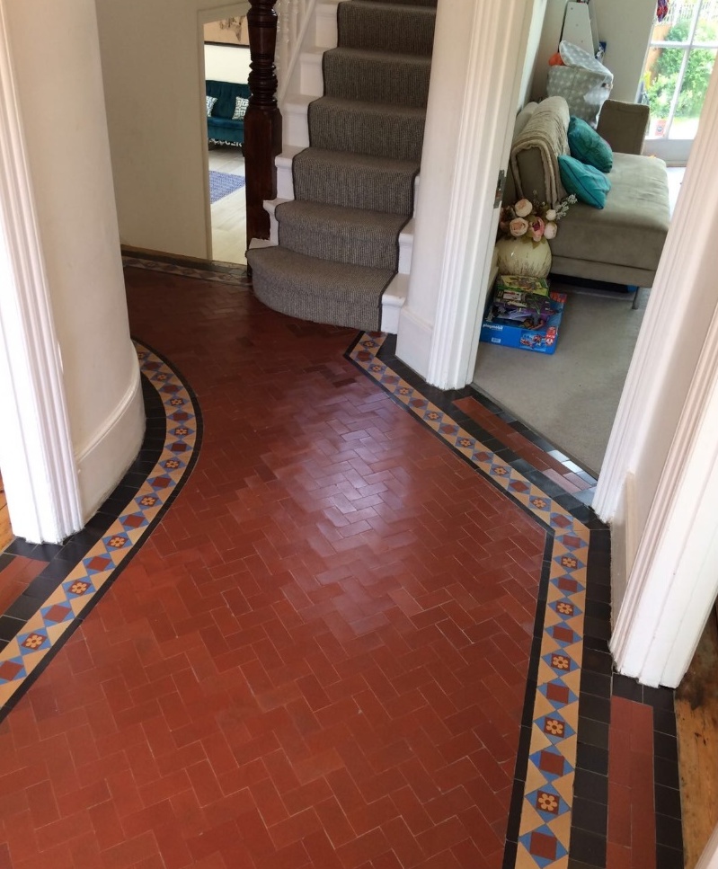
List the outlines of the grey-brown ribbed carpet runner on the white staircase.
{"label": "grey-brown ribbed carpet runner on the white staircase", "polygon": [[279,246],[247,252],[255,295],[284,314],[378,331],[412,217],[437,0],[345,0],[324,53],[295,200],[275,210]]}

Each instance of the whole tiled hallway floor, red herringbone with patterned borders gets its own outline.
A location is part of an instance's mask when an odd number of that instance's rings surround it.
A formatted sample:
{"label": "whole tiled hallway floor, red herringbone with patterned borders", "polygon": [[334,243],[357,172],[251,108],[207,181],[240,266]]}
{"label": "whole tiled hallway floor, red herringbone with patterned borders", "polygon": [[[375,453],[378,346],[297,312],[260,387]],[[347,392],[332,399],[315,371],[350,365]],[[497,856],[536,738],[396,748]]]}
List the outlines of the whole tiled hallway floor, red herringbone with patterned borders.
{"label": "whole tiled hallway floor, red herringbone with patterned borders", "polygon": [[0,869],[682,867],[673,697],[611,671],[590,478],[188,271],[126,272],[143,488],[0,555]]}

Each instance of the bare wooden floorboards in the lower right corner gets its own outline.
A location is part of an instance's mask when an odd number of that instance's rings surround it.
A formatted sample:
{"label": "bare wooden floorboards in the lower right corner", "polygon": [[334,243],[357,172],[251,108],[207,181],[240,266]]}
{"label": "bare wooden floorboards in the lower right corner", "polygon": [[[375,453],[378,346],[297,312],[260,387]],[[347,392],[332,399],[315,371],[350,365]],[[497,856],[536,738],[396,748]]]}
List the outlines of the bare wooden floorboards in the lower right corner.
{"label": "bare wooden floorboards in the lower right corner", "polygon": [[685,865],[692,869],[718,824],[718,624],[713,613],[676,692]]}

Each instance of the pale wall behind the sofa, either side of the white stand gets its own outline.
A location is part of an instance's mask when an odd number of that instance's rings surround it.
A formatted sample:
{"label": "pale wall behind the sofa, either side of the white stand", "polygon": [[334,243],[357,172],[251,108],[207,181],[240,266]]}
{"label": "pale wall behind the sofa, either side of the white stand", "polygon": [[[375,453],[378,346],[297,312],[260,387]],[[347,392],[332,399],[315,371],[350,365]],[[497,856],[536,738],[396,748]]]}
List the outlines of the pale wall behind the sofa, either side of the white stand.
{"label": "pale wall behind the sofa, either side of the white stand", "polygon": [[[558,49],[563,14],[568,0],[546,0],[544,29],[536,51],[532,99],[545,96],[548,58]],[[591,0],[598,23],[598,38],[607,43],[604,63],[614,74],[611,98],[634,102],[643,73],[648,40],[651,34],[655,0]]]}

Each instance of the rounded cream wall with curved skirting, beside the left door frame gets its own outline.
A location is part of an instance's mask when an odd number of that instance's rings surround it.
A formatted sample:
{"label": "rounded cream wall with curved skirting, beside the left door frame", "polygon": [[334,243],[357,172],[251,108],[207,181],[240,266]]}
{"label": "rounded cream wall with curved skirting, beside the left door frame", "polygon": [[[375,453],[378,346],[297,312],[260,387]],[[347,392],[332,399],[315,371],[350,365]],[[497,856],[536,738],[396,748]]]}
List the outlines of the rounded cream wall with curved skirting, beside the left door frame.
{"label": "rounded cream wall with curved skirting, beside the left door frame", "polygon": [[5,0],[5,7],[87,518],[137,454],[144,430],[95,7],[93,0]]}

